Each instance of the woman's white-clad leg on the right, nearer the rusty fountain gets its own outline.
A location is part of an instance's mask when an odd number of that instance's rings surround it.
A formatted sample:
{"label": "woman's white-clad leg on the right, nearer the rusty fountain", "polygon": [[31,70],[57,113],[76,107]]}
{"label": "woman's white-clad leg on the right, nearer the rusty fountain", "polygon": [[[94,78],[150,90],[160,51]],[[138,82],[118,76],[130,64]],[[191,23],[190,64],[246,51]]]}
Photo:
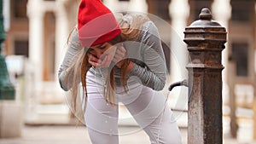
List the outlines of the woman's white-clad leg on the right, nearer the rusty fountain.
{"label": "woman's white-clad leg on the right, nearer the rusty fountain", "polygon": [[119,95],[119,101],[125,104],[152,144],[182,143],[176,119],[166,104],[166,96],[142,85],[130,86],[127,96]]}

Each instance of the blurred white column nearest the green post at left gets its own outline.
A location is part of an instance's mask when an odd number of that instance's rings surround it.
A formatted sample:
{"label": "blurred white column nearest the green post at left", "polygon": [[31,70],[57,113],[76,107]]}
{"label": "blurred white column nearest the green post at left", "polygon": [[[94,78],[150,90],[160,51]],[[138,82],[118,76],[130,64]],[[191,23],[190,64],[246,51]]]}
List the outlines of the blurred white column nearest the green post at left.
{"label": "blurred white column nearest the green post at left", "polygon": [[[37,106],[38,96],[40,96],[43,85],[43,55],[44,55],[44,9],[41,0],[29,0],[27,3],[27,16],[29,18],[29,64],[32,67],[31,80],[28,85],[32,89],[26,95],[26,102],[30,107],[26,113],[26,118],[34,119],[37,117],[35,107]],[[30,103],[33,101],[33,103]]]}

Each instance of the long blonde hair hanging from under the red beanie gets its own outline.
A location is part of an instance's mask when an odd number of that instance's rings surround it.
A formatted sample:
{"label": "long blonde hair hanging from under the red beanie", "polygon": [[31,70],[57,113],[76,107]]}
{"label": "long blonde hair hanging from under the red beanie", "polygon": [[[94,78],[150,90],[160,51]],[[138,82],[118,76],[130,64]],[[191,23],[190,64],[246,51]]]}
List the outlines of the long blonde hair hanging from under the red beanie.
{"label": "long blonde hair hanging from under the red beanie", "polygon": [[[128,21],[125,20],[120,20],[119,21],[119,26],[121,27],[121,34],[119,34],[119,36],[113,38],[111,41],[109,41],[109,43],[111,44],[116,44],[116,43],[121,43],[121,42],[125,42],[127,40],[130,41],[134,41],[137,40],[137,38],[139,37],[141,30],[142,30],[142,26],[143,23],[145,23],[146,21],[148,21],[148,17],[143,16],[143,15],[131,15],[132,17],[132,22],[131,24],[129,24]],[[88,51],[88,50],[87,50]],[[82,87],[84,90],[84,95],[83,95],[83,100],[86,103],[87,100],[87,89],[86,89],[86,73],[88,72],[88,70],[90,69],[90,64],[88,62],[88,56],[86,55],[86,52],[84,49],[81,49],[79,52],[79,56],[77,58],[77,60],[73,61],[73,65],[71,66],[71,69],[73,70],[72,72],[68,72],[67,74],[73,74],[73,84],[72,84],[72,95],[73,95],[73,102],[72,102],[72,107],[73,107],[73,111],[77,112],[78,107],[77,103],[79,102],[77,100],[77,95],[78,95],[78,84],[79,84],[79,80],[81,80],[82,83]],[[122,84],[122,86],[125,88],[125,90],[127,89],[127,85],[126,85],[126,76],[127,76],[127,66],[129,65],[130,60],[125,59],[124,65],[120,67],[120,82]],[[77,77],[77,76],[80,76]],[[107,89],[105,91],[104,90],[104,98],[105,100],[112,104],[115,105],[115,96],[114,96],[114,72],[113,69],[110,72],[110,77],[108,77],[106,80],[106,84],[107,87],[111,87],[112,89]],[[67,76],[68,77],[68,76]],[[85,104],[84,103],[84,111],[85,111]],[[76,108],[78,107],[78,108]]]}

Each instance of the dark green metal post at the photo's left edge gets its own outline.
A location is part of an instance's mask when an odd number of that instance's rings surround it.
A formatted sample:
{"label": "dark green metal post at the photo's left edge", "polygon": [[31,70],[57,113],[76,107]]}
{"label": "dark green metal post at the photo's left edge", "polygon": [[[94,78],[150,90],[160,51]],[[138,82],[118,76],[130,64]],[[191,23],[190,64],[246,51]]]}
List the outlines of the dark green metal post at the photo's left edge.
{"label": "dark green metal post at the photo's left edge", "polygon": [[5,39],[3,29],[3,0],[0,0],[0,100],[14,100],[15,88],[10,83],[9,73],[2,52],[2,43]]}

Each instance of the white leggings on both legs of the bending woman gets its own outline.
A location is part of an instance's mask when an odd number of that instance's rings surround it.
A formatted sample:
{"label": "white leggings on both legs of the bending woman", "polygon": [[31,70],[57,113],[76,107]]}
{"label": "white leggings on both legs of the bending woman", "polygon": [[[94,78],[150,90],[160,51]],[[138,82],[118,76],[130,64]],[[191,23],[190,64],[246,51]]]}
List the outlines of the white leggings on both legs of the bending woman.
{"label": "white leggings on both legs of the bending woman", "polygon": [[[115,87],[115,96],[131,112],[137,124],[147,133],[152,144],[181,144],[181,135],[166,97],[142,84]],[[90,141],[93,144],[118,144],[117,106],[108,105],[102,95],[102,79],[87,72],[88,101],[84,114]]]}

